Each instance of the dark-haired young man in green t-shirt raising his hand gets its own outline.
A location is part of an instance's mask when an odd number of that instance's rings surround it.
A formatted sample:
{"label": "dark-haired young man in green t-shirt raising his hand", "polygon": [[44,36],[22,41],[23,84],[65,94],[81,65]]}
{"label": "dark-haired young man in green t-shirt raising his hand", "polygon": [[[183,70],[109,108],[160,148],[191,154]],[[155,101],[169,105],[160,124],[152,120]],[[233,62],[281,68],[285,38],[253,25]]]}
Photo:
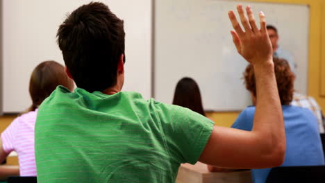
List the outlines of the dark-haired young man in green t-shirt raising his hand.
{"label": "dark-haired young man in green t-shirt raising his hand", "polygon": [[282,164],[285,132],[272,46],[247,7],[233,12],[233,40],[256,69],[258,102],[251,132],[214,126],[177,105],[146,101],[124,84],[123,21],[103,3],[74,10],[58,30],[67,74],[78,88],[58,87],[38,111],[38,182],[175,182],[181,163],[231,168]]}

